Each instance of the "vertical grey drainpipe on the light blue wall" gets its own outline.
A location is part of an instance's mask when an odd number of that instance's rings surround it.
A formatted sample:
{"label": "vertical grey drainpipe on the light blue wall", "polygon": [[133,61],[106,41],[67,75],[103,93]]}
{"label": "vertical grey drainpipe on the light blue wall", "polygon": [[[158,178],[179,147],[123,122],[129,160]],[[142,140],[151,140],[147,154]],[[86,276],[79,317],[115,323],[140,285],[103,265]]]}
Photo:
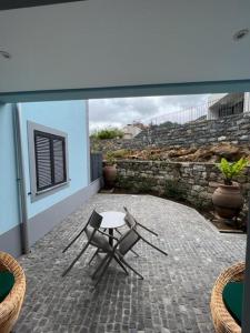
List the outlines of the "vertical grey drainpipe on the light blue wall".
{"label": "vertical grey drainpipe on the light blue wall", "polygon": [[22,254],[28,254],[30,252],[30,249],[29,249],[29,230],[28,230],[28,212],[27,212],[27,189],[26,189],[24,161],[23,161],[22,141],[21,141],[21,109],[19,104],[13,104],[12,118],[13,118],[16,161],[17,161],[21,248],[22,248]]}

